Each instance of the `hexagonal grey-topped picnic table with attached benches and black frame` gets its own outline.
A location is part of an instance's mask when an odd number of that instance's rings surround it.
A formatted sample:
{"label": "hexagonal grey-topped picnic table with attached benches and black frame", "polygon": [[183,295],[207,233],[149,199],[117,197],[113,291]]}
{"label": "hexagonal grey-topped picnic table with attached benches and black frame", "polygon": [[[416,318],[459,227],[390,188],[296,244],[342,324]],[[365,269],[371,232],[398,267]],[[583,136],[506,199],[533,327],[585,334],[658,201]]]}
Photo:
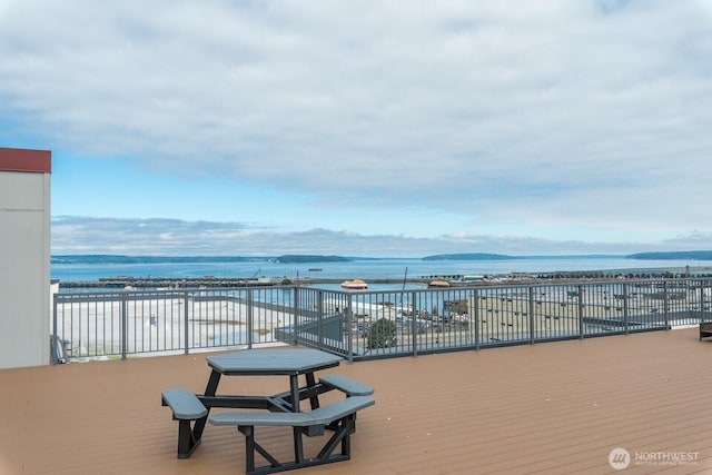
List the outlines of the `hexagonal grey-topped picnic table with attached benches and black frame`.
{"label": "hexagonal grey-topped picnic table with attached benches and black frame", "polygon": [[[273,473],[299,468],[319,463],[338,462],[350,457],[349,435],[355,431],[356,412],[374,404],[369,396],[373,388],[342,375],[324,375],[319,380],[315,373],[336,367],[342,357],[310,348],[250,349],[207,357],[210,376],[204,394],[188,389],[165,389],[162,404],[170,406],[174,418],[179,420],[178,458],[188,458],[200,444],[206,423],[235,425],[247,437],[247,473]],[[304,384],[299,383],[304,375]],[[219,394],[224,376],[287,376],[288,389],[275,395]],[[347,398],[319,407],[319,395],[339,389]],[[301,400],[309,400],[309,410],[303,412]],[[221,413],[209,417],[210,408],[266,409],[249,413]],[[191,422],[192,427],[190,425]],[[256,425],[281,425],[294,429],[295,461],[280,464],[254,439]],[[332,441],[316,458],[305,458],[301,434],[322,435],[324,428],[335,432]],[[332,454],[342,443],[342,454]],[[255,469],[255,452],[270,463]]]}

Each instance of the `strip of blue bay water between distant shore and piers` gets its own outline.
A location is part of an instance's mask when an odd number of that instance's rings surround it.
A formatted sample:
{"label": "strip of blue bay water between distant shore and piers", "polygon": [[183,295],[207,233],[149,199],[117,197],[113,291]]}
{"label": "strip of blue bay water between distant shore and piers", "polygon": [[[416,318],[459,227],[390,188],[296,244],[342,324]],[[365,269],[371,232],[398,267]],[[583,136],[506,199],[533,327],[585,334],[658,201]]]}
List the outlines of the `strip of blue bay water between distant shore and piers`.
{"label": "strip of blue bay water between distant shore and piers", "polygon": [[53,264],[51,277],[60,281],[92,281],[105,277],[228,278],[288,277],[308,280],[403,279],[425,276],[544,274],[556,271],[653,273],[662,269],[712,274],[711,260],[639,260],[626,258],[527,258],[507,260],[377,259],[347,263],[165,263],[165,264]]}

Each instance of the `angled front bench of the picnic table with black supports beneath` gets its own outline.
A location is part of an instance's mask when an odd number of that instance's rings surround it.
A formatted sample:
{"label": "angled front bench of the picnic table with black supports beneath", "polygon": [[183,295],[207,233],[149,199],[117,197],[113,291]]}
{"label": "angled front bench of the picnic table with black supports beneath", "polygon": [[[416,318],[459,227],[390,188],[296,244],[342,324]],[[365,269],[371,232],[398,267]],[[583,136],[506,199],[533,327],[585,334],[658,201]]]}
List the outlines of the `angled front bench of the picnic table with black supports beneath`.
{"label": "angled front bench of the picnic table with black supports beneath", "polygon": [[[248,475],[261,475],[290,471],[314,465],[330,464],[350,459],[350,435],[354,433],[356,413],[375,402],[368,396],[353,396],[305,413],[221,413],[210,416],[210,424],[237,426],[245,435],[245,468]],[[280,463],[265,447],[255,441],[256,426],[288,426],[294,431],[294,461]],[[334,431],[318,454],[304,456],[300,435],[309,437],[324,435],[325,428]],[[340,444],[340,452],[334,451]],[[260,454],[269,465],[255,467],[255,453]]]}

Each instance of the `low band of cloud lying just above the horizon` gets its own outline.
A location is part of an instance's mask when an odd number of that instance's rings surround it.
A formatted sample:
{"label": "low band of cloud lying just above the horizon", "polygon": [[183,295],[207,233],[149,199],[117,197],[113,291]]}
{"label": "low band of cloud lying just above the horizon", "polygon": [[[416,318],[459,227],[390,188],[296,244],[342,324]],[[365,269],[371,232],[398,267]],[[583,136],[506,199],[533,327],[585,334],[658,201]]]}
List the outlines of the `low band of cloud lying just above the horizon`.
{"label": "low band of cloud lying just above the horizon", "polygon": [[52,219],[52,255],[117,254],[138,256],[279,256],[320,254],[357,257],[424,257],[435,254],[494,253],[514,256],[632,254],[646,250],[704,248],[712,236],[694,232],[669,243],[585,243],[507,235],[442,235],[413,238],[360,235],[314,228],[279,232],[240,222],[178,219],[57,217]]}

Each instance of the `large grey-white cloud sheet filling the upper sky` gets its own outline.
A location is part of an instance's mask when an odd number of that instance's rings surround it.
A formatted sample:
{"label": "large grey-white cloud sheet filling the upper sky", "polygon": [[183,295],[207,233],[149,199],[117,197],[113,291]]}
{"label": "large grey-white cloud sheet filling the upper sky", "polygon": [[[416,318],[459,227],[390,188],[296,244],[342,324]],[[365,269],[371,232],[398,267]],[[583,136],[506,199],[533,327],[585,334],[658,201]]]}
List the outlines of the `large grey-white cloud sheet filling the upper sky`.
{"label": "large grey-white cloud sheet filling the upper sky", "polygon": [[1,116],[318,207],[644,239],[712,219],[711,23],[686,0],[6,0]]}

